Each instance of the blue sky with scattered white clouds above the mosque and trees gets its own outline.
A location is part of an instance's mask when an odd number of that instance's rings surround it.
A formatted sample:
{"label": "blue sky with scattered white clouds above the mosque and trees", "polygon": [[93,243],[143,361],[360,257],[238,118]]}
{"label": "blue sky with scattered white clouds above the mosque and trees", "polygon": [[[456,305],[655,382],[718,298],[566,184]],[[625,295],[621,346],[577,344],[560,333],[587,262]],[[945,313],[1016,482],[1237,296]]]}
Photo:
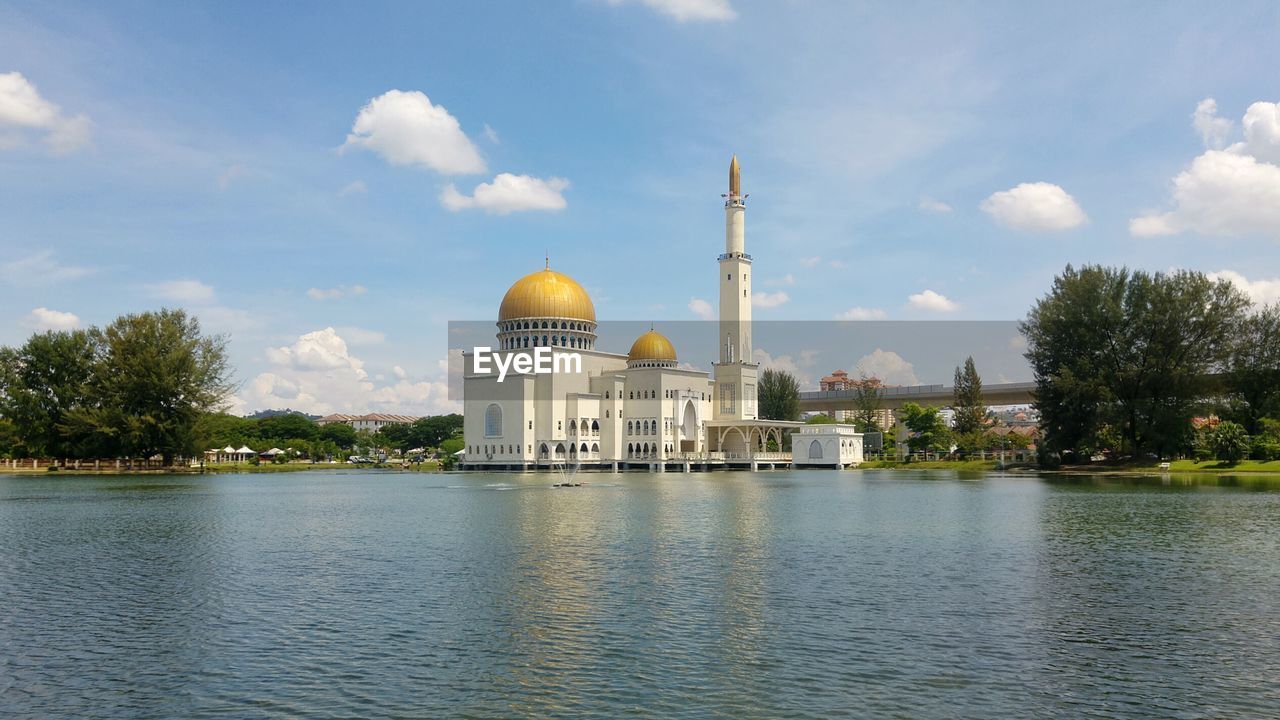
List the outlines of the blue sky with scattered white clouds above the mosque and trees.
{"label": "blue sky with scattered white clouds above the mosque and trees", "polygon": [[[602,320],[713,313],[735,152],[758,320],[1012,322],[1069,263],[1274,302],[1276,37],[1245,1],[0,3],[0,345],[184,307],[234,411],[456,410],[448,323],[544,258]],[[758,359],[950,380],[797,342]]]}

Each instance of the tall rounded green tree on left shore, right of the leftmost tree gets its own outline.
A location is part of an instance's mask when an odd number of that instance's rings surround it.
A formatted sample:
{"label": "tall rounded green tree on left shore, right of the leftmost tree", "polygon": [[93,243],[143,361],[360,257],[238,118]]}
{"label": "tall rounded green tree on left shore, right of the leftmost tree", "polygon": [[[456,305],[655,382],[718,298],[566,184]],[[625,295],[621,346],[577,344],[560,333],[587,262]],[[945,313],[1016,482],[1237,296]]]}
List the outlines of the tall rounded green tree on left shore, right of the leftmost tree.
{"label": "tall rounded green tree on left shore, right of the leftmost tree", "polygon": [[90,402],[68,414],[69,433],[102,455],[195,454],[197,420],[232,391],[227,340],[183,310],[123,315],[93,336]]}

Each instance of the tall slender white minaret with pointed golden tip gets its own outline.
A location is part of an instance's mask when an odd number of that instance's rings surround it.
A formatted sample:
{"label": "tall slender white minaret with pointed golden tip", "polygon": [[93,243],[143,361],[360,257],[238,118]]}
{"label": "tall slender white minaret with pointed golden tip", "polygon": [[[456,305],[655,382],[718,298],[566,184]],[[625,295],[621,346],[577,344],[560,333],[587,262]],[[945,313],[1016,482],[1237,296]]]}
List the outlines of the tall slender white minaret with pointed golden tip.
{"label": "tall slender white minaret with pointed golden tip", "polygon": [[717,420],[754,420],[756,365],[751,361],[751,256],[746,254],[746,196],[737,155],[728,164],[724,254],[719,256],[719,363],[714,364]]}

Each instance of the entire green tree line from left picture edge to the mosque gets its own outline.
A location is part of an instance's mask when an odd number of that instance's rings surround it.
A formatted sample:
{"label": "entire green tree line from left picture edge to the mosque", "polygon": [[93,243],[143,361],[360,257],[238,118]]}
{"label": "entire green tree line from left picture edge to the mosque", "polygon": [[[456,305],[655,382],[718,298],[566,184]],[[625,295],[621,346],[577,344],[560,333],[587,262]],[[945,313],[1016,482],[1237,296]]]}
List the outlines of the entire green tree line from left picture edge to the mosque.
{"label": "entire green tree line from left picture edge to the mosque", "polygon": [[32,334],[19,347],[0,347],[0,456],[160,456],[169,464],[248,446],[335,457],[356,448],[436,448],[462,428],[457,414],[378,433],[320,425],[297,413],[239,418],[223,411],[234,389],[230,375],[227,338],[205,334],[183,310]]}

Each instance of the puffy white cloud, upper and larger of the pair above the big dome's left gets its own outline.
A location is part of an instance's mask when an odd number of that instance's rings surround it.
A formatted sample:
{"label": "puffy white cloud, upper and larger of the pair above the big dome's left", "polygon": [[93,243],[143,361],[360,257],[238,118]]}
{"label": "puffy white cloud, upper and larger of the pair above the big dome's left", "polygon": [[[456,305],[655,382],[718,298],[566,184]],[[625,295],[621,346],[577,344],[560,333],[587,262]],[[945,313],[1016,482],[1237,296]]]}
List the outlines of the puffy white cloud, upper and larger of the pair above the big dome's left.
{"label": "puffy white cloud, upper and larger of the pair above the big dome's left", "polygon": [[390,90],[370,100],[343,147],[364,147],[393,165],[422,165],[444,174],[485,172],[457,118],[419,91]]}

